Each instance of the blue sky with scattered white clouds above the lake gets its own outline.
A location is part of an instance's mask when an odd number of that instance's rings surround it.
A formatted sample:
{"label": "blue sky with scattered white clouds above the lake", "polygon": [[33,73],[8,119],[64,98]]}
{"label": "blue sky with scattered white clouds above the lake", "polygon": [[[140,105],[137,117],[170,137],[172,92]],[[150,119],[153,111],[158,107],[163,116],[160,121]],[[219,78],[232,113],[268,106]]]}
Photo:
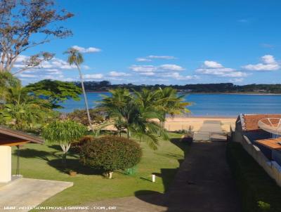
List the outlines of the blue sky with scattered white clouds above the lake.
{"label": "blue sky with scattered white clouds above the lake", "polygon": [[[74,13],[73,37],[38,46],[55,53],[41,69],[20,74],[78,80],[63,51],[84,53],[86,80],[113,84],[281,83],[281,1],[60,0]],[[26,55],[22,55],[24,58]],[[19,60],[20,62],[20,60]]]}

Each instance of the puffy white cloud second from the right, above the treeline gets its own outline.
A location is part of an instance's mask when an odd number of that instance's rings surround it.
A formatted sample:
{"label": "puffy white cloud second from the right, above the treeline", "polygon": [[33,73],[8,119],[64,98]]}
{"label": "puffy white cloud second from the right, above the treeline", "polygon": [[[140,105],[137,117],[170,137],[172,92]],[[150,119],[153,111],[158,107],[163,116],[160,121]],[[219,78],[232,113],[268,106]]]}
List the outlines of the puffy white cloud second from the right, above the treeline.
{"label": "puffy white cloud second from the right, above the treeline", "polygon": [[201,68],[196,69],[199,74],[214,75],[217,77],[247,77],[248,74],[236,69],[223,67],[216,61],[206,60]]}

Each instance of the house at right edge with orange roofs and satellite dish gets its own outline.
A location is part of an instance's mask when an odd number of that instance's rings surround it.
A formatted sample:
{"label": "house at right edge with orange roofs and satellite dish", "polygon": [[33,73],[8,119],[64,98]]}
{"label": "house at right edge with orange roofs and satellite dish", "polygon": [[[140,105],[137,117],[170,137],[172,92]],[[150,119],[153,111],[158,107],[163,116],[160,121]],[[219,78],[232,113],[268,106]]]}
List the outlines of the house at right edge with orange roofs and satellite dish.
{"label": "house at right edge with orange roofs and satellite dish", "polygon": [[240,114],[230,140],[241,143],[281,187],[281,114]]}

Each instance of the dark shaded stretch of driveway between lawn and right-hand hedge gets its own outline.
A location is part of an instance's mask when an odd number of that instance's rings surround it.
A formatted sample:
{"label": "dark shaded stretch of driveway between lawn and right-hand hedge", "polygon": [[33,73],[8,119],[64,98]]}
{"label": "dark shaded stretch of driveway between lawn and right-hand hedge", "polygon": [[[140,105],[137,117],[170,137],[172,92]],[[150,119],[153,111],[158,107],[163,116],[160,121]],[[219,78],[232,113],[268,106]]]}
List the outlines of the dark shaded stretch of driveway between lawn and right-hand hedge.
{"label": "dark shaded stretch of driveway between lawn and right-hand hedge", "polygon": [[167,192],[168,211],[238,212],[226,143],[194,143]]}

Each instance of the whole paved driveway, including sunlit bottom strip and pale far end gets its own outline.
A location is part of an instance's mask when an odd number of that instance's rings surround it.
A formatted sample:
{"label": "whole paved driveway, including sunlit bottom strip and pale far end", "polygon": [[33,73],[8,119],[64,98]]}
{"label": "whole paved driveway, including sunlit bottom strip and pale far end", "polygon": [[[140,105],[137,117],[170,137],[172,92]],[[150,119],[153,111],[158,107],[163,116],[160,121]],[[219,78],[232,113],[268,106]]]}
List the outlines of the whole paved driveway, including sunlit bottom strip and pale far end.
{"label": "whole paved driveway, including sunlit bottom strip and pale far end", "polygon": [[[202,131],[207,130],[221,133],[220,122],[205,123]],[[225,142],[193,143],[166,194],[97,201],[86,204],[86,211],[115,206],[124,212],[240,212],[225,152]]]}

